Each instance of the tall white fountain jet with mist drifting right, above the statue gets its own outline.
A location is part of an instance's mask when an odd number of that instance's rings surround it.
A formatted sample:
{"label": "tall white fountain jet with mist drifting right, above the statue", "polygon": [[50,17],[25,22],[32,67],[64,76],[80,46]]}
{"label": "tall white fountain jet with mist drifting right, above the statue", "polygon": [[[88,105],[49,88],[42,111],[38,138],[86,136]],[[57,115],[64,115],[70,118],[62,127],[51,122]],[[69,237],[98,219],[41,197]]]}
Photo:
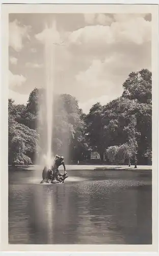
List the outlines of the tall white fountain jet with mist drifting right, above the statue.
{"label": "tall white fountain jet with mist drifting right, above the statue", "polygon": [[[39,134],[37,165],[50,168],[54,161],[54,154],[68,154],[66,137],[69,136],[67,124],[67,111],[62,97],[57,94],[56,84],[56,52],[62,45],[62,40],[56,27],[56,20],[46,23],[44,30],[39,34],[39,39],[44,46],[44,86],[39,95],[39,113],[37,130]],[[59,50],[60,53],[62,49]],[[58,55],[59,57],[59,55]],[[55,99],[55,100],[54,100]],[[60,121],[59,121],[60,119]],[[60,123],[59,123],[60,122]],[[66,123],[66,124],[65,124]],[[65,127],[63,129],[63,124]],[[66,127],[67,126],[67,127]],[[58,127],[60,127],[58,129]],[[66,129],[67,128],[67,129]],[[54,133],[54,134],[53,134]],[[62,144],[59,146],[59,144]],[[54,148],[53,148],[54,146]],[[52,152],[53,148],[53,152]],[[65,158],[66,159],[66,158]]]}

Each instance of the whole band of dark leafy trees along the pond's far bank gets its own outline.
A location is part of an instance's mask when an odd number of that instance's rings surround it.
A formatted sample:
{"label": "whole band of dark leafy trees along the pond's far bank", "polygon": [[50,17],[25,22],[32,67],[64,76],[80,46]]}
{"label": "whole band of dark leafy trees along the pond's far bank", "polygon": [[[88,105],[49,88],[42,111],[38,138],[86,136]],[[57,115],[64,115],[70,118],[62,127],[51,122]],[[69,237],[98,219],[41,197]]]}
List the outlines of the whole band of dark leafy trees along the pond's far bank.
{"label": "whole band of dark leafy trees along the pond's far bank", "polygon": [[[121,97],[105,105],[95,103],[86,115],[75,97],[55,97],[52,148],[66,161],[90,161],[98,152],[100,161],[112,164],[152,162],[152,74],[148,69],[131,72],[123,83]],[[39,109],[45,90],[35,88],[28,103],[8,101],[9,164],[32,164],[46,148],[46,110]],[[40,122],[40,130],[37,123]]]}

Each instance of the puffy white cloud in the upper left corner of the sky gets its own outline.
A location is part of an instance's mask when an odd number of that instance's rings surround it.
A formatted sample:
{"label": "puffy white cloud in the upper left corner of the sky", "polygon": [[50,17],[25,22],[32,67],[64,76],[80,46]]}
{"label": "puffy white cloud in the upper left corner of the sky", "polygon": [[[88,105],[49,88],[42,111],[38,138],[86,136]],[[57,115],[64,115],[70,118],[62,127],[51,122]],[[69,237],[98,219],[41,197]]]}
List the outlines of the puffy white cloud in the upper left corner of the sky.
{"label": "puffy white cloud in the upper left corner of the sky", "polygon": [[30,26],[21,26],[17,19],[9,23],[9,46],[19,52],[23,48],[23,39],[30,40],[30,29]]}

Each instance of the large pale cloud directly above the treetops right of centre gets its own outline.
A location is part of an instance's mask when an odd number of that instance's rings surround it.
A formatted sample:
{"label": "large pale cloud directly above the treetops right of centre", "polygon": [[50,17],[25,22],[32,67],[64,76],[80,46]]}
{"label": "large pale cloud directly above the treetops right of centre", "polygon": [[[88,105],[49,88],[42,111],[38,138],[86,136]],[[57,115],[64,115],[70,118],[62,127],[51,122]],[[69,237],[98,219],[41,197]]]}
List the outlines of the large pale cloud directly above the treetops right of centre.
{"label": "large pale cloud directly above the treetops right of centre", "polygon": [[[142,50],[135,49],[135,54],[131,48],[111,52],[110,56],[94,59],[88,69],[78,72],[75,84],[80,88],[78,97],[80,96],[80,106],[84,112],[88,112],[97,101],[106,104],[121,96],[122,84],[130,72],[150,69],[150,56],[149,51],[145,56],[146,49],[145,46]],[[86,94],[82,95],[80,91],[85,91]]]}

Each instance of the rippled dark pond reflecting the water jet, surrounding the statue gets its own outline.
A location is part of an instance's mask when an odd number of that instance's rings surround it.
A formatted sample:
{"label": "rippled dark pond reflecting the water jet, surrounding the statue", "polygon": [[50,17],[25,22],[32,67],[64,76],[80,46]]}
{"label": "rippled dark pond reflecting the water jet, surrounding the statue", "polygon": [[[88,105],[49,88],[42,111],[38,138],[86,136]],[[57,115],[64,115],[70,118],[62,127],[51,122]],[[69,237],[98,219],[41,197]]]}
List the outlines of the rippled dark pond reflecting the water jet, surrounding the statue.
{"label": "rippled dark pond reflecting the water jet, surrounding the statue", "polygon": [[9,170],[10,244],[151,244],[151,172]]}

